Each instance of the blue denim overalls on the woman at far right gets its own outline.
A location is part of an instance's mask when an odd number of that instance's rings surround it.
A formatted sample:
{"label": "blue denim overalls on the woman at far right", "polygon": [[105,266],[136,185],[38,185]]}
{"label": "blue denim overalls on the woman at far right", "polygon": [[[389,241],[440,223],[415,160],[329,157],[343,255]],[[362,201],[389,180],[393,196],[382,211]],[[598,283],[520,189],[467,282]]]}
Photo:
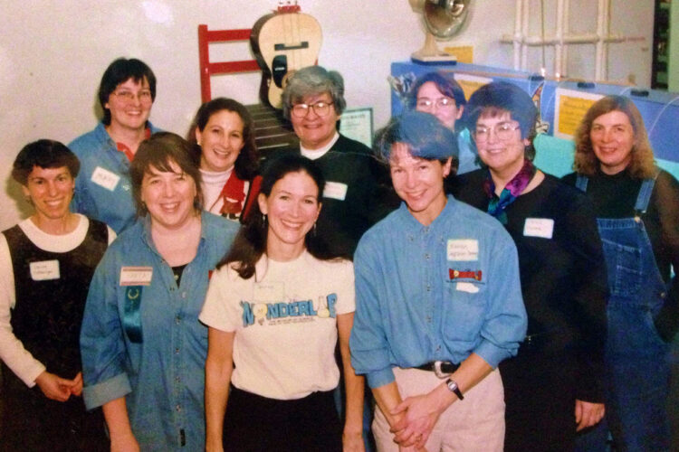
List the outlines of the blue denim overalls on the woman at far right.
{"label": "blue denim overalls on the woman at far right", "polygon": [[[579,181],[579,188],[586,183]],[[636,211],[646,212],[654,181],[644,181]],[[669,450],[670,354],[654,317],[668,287],[637,216],[598,219],[608,269],[607,422],[619,450]]]}

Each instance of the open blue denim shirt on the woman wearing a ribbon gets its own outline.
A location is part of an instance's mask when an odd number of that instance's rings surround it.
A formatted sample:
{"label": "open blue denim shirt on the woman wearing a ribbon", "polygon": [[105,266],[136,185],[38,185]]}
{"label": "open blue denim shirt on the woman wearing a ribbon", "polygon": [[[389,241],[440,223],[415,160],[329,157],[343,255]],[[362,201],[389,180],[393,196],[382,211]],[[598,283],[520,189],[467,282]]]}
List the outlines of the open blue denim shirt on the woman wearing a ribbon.
{"label": "open blue denim shirt on the woman wearing a ribbon", "polygon": [[[205,360],[207,327],[198,322],[208,274],[222,259],[238,226],[202,213],[196,258],[177,287],[172,268],[151,240],[148,218],[120,234],[92,278],[81,329],[88,409],[125,397],[141,450],[200,451],[205,448]],[[142,342],[121,327],[126,289],[122,267],[151,267],[141,287]]]}

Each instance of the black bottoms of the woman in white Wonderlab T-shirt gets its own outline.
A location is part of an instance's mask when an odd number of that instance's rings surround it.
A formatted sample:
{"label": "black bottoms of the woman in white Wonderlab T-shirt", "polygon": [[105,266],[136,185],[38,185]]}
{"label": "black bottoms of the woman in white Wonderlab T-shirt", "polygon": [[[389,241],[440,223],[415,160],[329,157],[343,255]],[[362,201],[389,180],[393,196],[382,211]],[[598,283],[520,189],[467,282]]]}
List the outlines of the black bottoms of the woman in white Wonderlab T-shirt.
{"label": "black bottoms of the woman in white Wonderlab T-shirt", "polygon": [[342,450],[342,428],[332,391],[276,400],[231,387],[224,448],[237,451]]}

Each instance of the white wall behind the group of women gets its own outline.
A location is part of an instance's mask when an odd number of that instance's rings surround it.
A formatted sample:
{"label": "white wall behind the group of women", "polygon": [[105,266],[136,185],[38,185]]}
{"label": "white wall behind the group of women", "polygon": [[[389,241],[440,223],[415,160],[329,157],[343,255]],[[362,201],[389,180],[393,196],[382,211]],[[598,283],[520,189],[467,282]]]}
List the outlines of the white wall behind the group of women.
{"label": "white wall behind the group of women", "polygon": [[[555,0],[546,0],[548,10]],[[319,63],[345,77],[349,107],[373,107],[376,127],[389,116],[387,75],[391,61],[406,61],[423,42],[421,24],[407,0],[301,0],[302,11],[323,30]],[[593,1],[573,0],[571,25],[591,22]],[[539,14],[539,0],[531,0]],[[631,4],[631,5],[628,5]],[[250,28],[275,8],[275,0],[5,0],[0,3],[0,230],[25,215],[24,202],[9,173],[24,144],[49,137],[68,143],[97,123],[96,90],[101,73],[120,56],[146,61],[158,77],[151,120],[186,133],[200,103],[197,25],[210,29]],[[581,12],[582,11],[582,12]],[[546,12],[548,20],[553,16]],[[613,2],[613,29],[653,33],[653,0]],[[475,62],[512,66],[512,47],[499,42],[512,33],[513,0],[473,0],[470,23],[455,44],[473,44]],[[593,28],[593,26],[592,26]],[[540,30],[539,15],[532,33]],[[609,77],[639,84],[650,80],[650,42],[616,44]],[[571,52],[569,75],[593,77],[593,46]],[[536,51],[537,52],[537,51]],[[592,58],[587,59],[587,52]],[[531,53],[531,69],[540,68]],[[250,59],[247,47],[215,47],[213,59]],[[231,58],[228,58],[231,57]],[[259,75],[213,78],[213,96],[255,103]]]}

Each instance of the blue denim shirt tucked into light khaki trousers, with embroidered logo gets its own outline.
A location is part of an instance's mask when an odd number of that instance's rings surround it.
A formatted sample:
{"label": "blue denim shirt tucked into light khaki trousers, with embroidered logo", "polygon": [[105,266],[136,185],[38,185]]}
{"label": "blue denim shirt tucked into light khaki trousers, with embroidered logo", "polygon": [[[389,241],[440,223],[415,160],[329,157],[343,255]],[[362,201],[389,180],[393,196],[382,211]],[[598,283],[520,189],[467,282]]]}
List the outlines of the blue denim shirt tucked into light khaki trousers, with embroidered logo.
{"label": "blue denim shirt tucked into light khaki trousers, with embroidered logo", "polygon": [[[456,240],[475,242],[476,258],[448,259]],[[480,271],[480,280],[451,278],[454,270]],[[395,366],[460,363],[471,353],[495,367],[516,354],[526,334],[512,238],[491,216],[452,196],[429,226],[402,203],[360,240],[354,271],[351,362],[370,388],[394,381]]]}

